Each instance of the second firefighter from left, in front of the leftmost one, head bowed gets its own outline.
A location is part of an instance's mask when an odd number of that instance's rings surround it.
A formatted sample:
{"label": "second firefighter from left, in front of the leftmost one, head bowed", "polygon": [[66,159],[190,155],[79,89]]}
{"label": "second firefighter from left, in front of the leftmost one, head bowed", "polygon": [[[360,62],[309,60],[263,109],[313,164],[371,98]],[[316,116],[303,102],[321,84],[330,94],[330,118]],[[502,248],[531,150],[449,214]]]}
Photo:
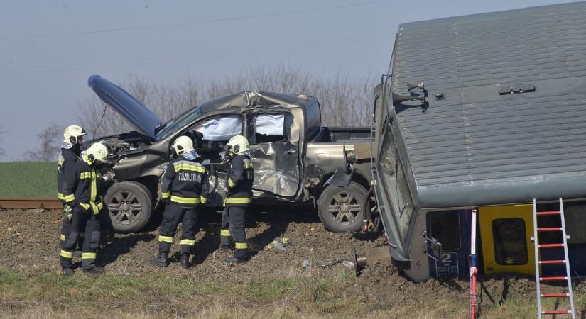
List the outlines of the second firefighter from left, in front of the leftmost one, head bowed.
{"label": "second firefighter from left, in front of the leftmost one, head bowed", "polygon": [[108,149],[102,143],[92,144],[81,153],[75,169],[67,169],[63,180],[63,198],[71,208],[65,218],[67,233],[61,242],[61,267],[66,275],[73,274],[73,251],[85,233],[82,245],[82,269],[89,274],[101,274],[104,270],[95,265],[96,250],[99,246],[100,225],[98,214],[104,213],[103,194],[106,182],[97,169],[107,162]]}

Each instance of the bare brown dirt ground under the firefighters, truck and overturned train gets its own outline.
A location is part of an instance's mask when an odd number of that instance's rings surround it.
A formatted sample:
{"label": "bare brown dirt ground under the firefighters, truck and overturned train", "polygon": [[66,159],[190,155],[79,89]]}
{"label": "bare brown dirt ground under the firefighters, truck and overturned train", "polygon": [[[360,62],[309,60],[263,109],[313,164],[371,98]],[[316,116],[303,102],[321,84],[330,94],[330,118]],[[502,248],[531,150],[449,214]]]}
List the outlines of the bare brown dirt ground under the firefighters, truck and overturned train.
{"label": "bare brown dirt ground under the firefighters, truck and overturned train", "polygon": [[[58,236],[61,223],[60,211],[13,210],[0,211],[0,267],[18,272],[58,273]],[[352,248],[364,251],[381,245],[380,234],[332,233],[325,230],[315,213],[279,211],[249,213],[247,235],[252,258],[244,265],[229,267],[224,261],[227,254],[216,254],[219,245],[220,213],[202,213],[198,223],[196,250],[193,266],[185,271],[176,258],[168,269],[153,267],[148,260],[156,255],[156,236],[160,218],[153,220],[147,229],[137,234],[116,234],[106,247],[99,251],[99,264],[107,272],[115,274],[141,274],[145,272],[171,272],[196,277],[202,281],[246,282],[251,279],[279,279],[303,276],[309,270],[302,267],[304,260],[313,265],[334,264],[331,267],[313,268],[353,269],[336,263],[352,260]],[[285,252],[264,250],[274,237],[288,238]],[[179,242],[179,232],[175,243]],[[179,249],[174,245],[172,252]],[[78,270],[79,272],[79,270]],[[467,276],[452,279],[431,279],[415,284],[403,276],[389,262],[377,262],[364,269],[356,279],[342,285],[336,293],[355,296],[369,307],[405,307],[405,313],[395,313],[394,318],[404,318],[413,308],[443,307],[435,315],[444,318],[461,318],[468,308]],[[534,280],[524,276],[492,276],[479,279],[479,311],[494,315],[495,307],[514,297],[516,302],[535,303]],[[584,294],[586,284],[577,285],[575,292]],[[460,309],[454,313],[453,309]],[[530,307],[531,308],[531,307]],[[578,305],[583,312],[583,306]],[[411,309],[411,310],[410,310]],[[533,310],[531,310],[532,312]],[[497,312],[498,314],[498,312]],[[578,313],[580,314],[580,313]],[[359,315],[359,314],[356,314]],[[353,316],[353,315],[352,315]],[[496,315],[495,315],[496,316]],[[531,315],[526,317],[531,318]]]}

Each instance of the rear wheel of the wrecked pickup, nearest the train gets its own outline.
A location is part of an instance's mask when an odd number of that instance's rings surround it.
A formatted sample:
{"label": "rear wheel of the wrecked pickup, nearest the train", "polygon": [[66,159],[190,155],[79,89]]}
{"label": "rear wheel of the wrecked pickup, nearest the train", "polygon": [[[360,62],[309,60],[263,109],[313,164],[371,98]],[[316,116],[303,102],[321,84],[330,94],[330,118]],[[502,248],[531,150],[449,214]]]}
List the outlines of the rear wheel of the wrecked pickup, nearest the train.
{"label": "rear wheel of the wrecked pickup, nearest the train", "polygon": [[336,233],[354,232],[364,222],[367,191],[358,183],[327,186],[318,201],[318,215],[325,228]]}

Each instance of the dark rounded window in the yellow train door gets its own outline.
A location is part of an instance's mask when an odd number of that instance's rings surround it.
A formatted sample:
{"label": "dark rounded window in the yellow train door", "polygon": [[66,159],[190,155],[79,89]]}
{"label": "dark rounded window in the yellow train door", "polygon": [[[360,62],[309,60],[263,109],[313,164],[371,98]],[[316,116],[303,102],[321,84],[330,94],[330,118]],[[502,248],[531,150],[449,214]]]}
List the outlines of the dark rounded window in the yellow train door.
{"label": "dark rounded window in the yellow train door", "polygon": [[526,264],[527,241],[525,222],[521,218],[492,220],[494,260],[504,266]]}

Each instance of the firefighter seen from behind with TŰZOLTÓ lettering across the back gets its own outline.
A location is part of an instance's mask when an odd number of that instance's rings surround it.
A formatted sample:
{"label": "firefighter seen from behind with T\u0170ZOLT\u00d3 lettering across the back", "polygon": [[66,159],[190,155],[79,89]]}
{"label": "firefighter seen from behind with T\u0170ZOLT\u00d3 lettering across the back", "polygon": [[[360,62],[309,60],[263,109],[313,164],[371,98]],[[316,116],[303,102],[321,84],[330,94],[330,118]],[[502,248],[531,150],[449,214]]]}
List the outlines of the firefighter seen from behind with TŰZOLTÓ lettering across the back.
{"label": "firefighter seen from behind with T\u0170ZOLT\u00d3 lettering across the back", "polygon": [[207,172],[197,162],[199,155],[193,149],[191,138],[180,136],[172,147],[178,157],[168,164],[163,175],[161,198],[166,206],[158,235],[158,258],[151,259],[151,264],[168,267],[173,236],[181,223],[180,262],[183,269],[188,269],[195,245],[195,223],[200,204],[207,201]]}

